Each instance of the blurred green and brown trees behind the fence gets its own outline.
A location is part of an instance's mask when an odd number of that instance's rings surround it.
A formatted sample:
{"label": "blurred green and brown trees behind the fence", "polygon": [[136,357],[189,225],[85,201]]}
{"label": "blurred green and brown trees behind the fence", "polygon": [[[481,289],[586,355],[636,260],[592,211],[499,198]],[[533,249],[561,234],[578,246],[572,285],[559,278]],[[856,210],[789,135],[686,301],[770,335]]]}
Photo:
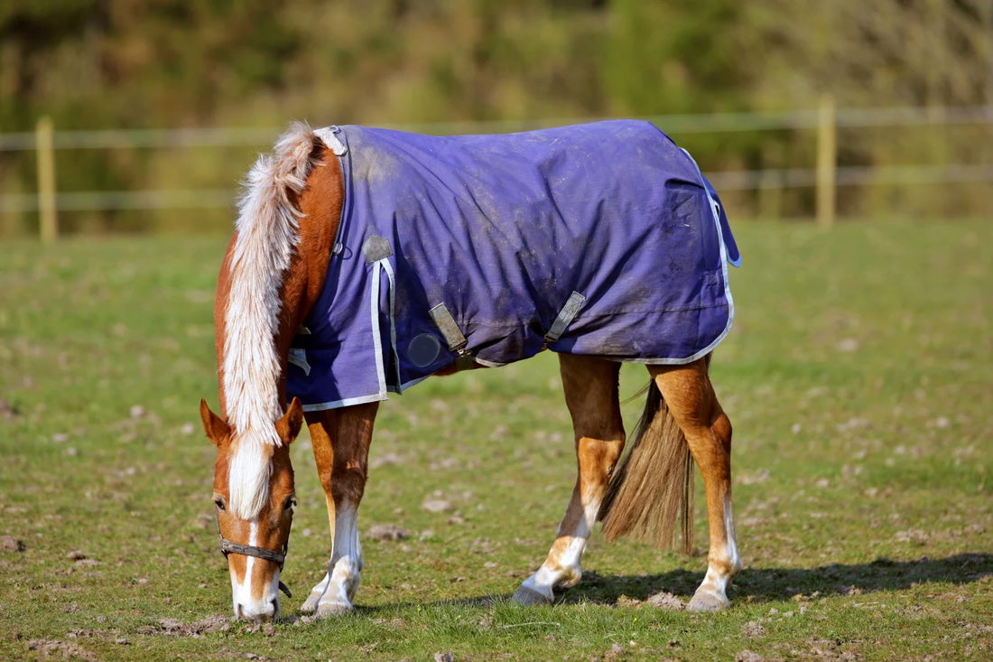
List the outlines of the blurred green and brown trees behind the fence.
{"label": "blurred green and brown trees behind the fence", "polygon": [[[993,104],[990,0],[5,0],[0,132],[405,124]],[[663,130],[666,127],[663,125]],[[705,170],[812,164],[808,129],[676,135]],[[977,163],[990,125],[859,129],[843,165]],[[230,188],[265,148],[59,152],[61,191]],[[30,193],[30,152],[0,192]],[[195,184],[193,184],[193,183]],[[986,187],[840,189],[839,210],[989,211]],[[950,193],[949,193],[950,189]],[[788,190],[778,216],[810,208]],[[734,196],[763,214],[758,192]],[[0,233],[33,214],[3,215]],[[228,210],[64,214],[69,230],[227,228]]]}

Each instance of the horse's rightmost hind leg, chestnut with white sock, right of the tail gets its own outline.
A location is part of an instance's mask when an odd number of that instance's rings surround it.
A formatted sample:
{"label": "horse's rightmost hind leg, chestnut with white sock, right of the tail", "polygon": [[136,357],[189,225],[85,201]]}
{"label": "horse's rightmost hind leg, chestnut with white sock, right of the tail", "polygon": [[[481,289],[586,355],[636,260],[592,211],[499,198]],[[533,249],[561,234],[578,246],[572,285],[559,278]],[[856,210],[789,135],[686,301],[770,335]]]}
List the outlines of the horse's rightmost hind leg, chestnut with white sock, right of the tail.
{"label": "horse's rightmost hind leg, chestnut with white sock, right of the tail", "polygon": [[728,606],[725,588],[742,567],[731,515],[731,421],[717,402],[707,363],[700,359],[674,368],[649,366],[669,413],[686,436],[707,491],[707,576],[689,601],[691,611]]}

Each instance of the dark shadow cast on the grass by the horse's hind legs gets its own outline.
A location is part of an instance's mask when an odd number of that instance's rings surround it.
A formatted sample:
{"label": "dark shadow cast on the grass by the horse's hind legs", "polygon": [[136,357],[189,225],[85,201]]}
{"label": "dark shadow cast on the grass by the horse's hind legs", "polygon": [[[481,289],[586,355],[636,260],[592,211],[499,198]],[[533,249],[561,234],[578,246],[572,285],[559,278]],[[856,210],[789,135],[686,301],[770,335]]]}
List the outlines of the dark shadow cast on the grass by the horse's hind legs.
{"label": "dark shadow cast on the grass by the horse's hind legs", "polygon": [[[909,588],[928,582],[970,583],[993,576],[993,555],[959,554],[945,559],[922,557],[917,561],[877,559],[857,566],[831,564],[819,568],[749,568],[728,590],[732,602],[742,599],[782,600],[796,593],[851,594]],[[602,577],[584,573],[561,601],[616,603],[624,595],[643,600],[667,591],[688,598],[703,579],[700,573],[672,571],[662,575]]]}

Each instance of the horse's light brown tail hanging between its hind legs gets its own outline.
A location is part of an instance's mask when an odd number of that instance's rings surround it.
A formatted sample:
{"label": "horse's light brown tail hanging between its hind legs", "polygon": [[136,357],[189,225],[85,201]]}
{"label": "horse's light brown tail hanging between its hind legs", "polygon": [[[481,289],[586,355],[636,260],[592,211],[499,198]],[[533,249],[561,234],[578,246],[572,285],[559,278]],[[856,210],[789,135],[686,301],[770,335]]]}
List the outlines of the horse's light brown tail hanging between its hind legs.
{"label": "horse's light brown tail hanging between its hind legs", "polygon": [[693,546],[693,458],[689,445],[653,382],[647,386],[644,412],[635,440],[614,470],[600,507],[607,540],[621,536],[676,547],[676,520],[681,520],[681,549]]}

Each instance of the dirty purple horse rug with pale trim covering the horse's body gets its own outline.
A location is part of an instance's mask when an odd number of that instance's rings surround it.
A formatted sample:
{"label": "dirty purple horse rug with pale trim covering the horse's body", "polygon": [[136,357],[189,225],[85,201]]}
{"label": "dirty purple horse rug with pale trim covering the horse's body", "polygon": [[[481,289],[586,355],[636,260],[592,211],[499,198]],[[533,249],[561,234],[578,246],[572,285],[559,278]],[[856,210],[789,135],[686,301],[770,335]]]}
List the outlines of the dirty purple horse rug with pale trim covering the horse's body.
{"label": "dirty purple horse rug with pale trim covering the horse's body", "polygon": [[710,183],[647,122],[509,135],[342,126],[345,200],[290,353],[309,411],[386,399],[447,366],[543,349],[683,364],[731,328],[738,248]]}

